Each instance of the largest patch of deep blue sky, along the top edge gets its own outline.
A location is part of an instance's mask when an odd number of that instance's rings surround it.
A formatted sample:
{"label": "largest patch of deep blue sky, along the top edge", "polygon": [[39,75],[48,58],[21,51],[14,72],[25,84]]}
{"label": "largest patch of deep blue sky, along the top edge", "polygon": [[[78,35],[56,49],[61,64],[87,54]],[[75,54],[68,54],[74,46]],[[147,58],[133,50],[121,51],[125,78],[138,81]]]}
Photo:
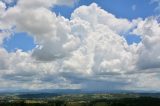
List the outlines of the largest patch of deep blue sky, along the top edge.
{"label": "largest patch of deep blue sky, along the top edge", "polygon": [[[157,4],[152,4],[150,0],[80,0],[74,7],[56,6],[53,10],[57,14],[60,13],[69,18],[75,8],[81,5],[89,5],[93,2],[118,18],[145,18],[156,14],[154,9]],[[135,6],[135,10],[133,10],[132,6]]]}

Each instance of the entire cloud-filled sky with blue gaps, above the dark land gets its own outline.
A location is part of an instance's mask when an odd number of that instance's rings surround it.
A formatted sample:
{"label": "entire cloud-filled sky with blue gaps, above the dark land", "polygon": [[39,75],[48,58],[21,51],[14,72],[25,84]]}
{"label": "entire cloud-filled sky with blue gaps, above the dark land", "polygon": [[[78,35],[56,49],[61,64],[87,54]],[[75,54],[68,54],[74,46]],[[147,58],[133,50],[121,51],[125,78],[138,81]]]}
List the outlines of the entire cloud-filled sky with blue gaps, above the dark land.
{"label": "entire cloud-filled sky with blue gaps, above the dark land", "polygon": [[0,91],[160,91],[160,0],[0,0]]}

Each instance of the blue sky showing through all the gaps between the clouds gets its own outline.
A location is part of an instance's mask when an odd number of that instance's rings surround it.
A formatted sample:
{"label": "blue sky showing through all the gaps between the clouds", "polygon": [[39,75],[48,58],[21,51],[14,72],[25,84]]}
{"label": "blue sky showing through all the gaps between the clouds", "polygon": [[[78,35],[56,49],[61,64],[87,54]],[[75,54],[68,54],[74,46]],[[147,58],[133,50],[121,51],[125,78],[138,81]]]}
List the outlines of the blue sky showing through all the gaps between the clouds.
{"label": "blue sky showing through all the gaps between the clouds", "polygon": [[[144,19],[157,14],[155,11],[157,4],[151,3],[150,0],[79,0],[74,6],[55,6],[52,11],[69,19],[76,8],[81,5],[90,5],[93,2],[118,18],[132,20],[140,17]],[[10,5],[13,6],[13,4],[15,3]],[[133,42],[138,43],[141,39],[138,36],[127,35],[126,40],[129,44],[132,44]],[[28,51],[33,49],[36,44],[27,33],[17,32],[9,39],[5,39],[3,46],[9,52],[15,51],[17,48]]]}

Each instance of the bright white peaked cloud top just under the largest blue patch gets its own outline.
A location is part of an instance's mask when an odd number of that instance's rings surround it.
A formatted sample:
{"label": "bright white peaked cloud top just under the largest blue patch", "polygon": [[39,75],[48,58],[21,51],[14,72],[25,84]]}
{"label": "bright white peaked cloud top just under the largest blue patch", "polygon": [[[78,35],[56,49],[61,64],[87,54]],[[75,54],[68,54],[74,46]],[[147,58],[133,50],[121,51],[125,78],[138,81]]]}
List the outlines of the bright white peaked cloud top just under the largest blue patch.
{"label": "bright white peaked cloud top just under the largest blue patch", "polygon": [[132,24],[127,19],[118,19],[113,14],[97,8],[97,4],[93,3],[89,7],[81,6],[74,11],[71,19],[80,18],[89,22],[90,24],[103,24],[111,28],[117,33],[128,31]]}

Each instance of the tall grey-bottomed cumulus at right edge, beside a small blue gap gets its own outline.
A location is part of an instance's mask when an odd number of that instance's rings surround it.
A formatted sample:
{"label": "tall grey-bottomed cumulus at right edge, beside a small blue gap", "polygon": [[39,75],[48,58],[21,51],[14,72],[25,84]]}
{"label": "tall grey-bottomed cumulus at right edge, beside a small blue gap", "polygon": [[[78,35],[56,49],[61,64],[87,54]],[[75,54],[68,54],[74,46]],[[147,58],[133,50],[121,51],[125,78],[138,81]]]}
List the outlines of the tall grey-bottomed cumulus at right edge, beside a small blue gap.
{"label": "tall grey-bottomed cumulus at right edge, beside a small blue gap", "polygon": [[158,23],[157,17],[141,21],[133,32],[141,35],[142,38],[137,65],[141,69],[160,68],[160,23]]}

